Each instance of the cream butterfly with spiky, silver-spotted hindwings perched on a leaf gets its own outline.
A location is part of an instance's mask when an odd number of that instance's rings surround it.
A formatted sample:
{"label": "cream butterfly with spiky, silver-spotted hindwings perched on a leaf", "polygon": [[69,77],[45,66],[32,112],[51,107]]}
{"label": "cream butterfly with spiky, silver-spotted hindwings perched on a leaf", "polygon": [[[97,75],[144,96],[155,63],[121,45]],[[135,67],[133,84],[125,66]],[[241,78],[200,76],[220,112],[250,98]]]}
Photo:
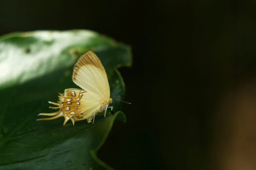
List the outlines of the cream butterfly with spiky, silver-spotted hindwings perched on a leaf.
{"label": "cream butterfly with spiky, silver-spotted hindwings perched on a leaf", "polygon": [[54,113],[40,113],[44,116],[53,116],[50,118],[41,118],[37,120],[53,120],[64,117],[64,123],[71,120],[73,125],[75,121],[87,119],[88,123],[94,123],[95,115],[105,111],[112,103],[110,98],[110,88],[107,73],[101,64],[99,58],[92,51],[81,55],[73,68],[72,81],[82,89],[65,89],[64,93],[59,93],[58,103],[50,102],[60,109]]}

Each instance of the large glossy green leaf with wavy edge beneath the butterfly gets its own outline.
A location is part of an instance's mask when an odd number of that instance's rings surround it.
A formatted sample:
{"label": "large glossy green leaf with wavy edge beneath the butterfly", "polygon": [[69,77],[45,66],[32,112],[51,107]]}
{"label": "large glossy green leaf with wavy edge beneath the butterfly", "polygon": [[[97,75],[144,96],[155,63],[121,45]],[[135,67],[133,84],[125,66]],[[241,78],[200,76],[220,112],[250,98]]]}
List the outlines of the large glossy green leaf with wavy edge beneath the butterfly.
{"label": "large glossy green leaf with wavy edge beneath the butterfly", "polygon": [[131,65],[130,48],[88,30],[35,31],[0,37],[0,170],[111,169],[97,150],[114,120],[126,121],[122,103],[112,103],[114,115],[98,114],[73,126],[63,118],[36,121],[37,114],[53,112],[48,101],[58,93],[79,88],[71,80],[78,57],[91,50],[108,75],[111,96],[124,95],[117,67]]}

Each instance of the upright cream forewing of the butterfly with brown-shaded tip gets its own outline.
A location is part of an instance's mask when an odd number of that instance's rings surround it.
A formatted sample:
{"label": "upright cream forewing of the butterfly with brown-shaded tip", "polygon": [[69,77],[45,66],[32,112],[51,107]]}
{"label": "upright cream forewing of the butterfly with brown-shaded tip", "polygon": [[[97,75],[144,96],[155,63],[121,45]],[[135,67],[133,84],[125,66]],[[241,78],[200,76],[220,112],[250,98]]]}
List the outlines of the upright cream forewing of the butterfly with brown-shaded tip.
{"label": "upright cream forewing of the butterfly with brown-shaded tip", "polygon": [[106,71],[92,51],[80,56],[73,68],[72,80],[87,92],[109,100],[110,88]]}

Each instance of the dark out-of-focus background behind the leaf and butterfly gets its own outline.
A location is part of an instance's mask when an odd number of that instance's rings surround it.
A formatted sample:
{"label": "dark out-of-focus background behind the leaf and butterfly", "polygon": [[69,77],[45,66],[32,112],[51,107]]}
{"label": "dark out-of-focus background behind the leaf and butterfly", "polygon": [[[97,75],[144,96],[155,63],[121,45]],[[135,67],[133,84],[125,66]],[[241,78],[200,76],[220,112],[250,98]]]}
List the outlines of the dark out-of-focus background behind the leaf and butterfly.
{"label": "dark out-of-focus background behind the leaf and butterfly", "polygon": [[117,170],[256,169],[256,1],[7,1],[0,35],[90,29],[132,47],[98,157]]}

